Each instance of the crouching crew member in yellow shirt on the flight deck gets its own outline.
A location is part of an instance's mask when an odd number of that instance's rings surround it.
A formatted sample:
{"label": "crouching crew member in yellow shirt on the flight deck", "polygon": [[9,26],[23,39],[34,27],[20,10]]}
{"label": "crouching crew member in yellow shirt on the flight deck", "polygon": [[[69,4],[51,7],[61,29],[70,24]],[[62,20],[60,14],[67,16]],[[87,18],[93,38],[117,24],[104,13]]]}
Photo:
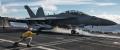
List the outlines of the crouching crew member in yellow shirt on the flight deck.
{"label": "crouching crew member in yellow shirt on the flight deck", "polygon": [[26,31],[25,33],[23,33],[23,34],[21,35],[21,39],[14,43],[14,46],[19,46],[19,42],[28,40],[28,42],[27,42],[27,47],[31,47],[32,37],[33,37],[33,35],[35,35],[35,34],[36,34],[36,33],[33,33],[33,32],[32,32],[32,28],[29,28],[28,31]]}

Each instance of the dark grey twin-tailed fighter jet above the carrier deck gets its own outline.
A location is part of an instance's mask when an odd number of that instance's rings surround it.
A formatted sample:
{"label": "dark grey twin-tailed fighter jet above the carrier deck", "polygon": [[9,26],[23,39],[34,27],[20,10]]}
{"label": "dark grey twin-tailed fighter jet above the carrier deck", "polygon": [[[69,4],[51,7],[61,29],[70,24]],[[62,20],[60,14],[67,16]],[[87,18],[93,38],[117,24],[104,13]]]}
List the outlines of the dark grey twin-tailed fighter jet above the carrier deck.
{"label": "dark grey twin-tailed fighter jet above the carrier deck", "polygon": [[55,15],[45,15],[42,7],[38,8],[36,14],[30,9],[28,5],[25,5],[24,8],[27,10],[30,18],[17,19],[15,21],[26,22],[30,25],[35,24],[37,25],[37,28],[38,28],[38,25],[41,27],[41,24],[43,23],[47,24],[47,25],[42,25],[44,28],[48,25],[52,27],[60,26],[63,28],[71,28],[71,27],[80,26],[80,25],[114,25],[116,24],[115,22],[112,22],[106,19],[97,18],[95,16],[90,16],[83,12],[76,12],[74,10],[66,11],[64,13],[55,14]]}

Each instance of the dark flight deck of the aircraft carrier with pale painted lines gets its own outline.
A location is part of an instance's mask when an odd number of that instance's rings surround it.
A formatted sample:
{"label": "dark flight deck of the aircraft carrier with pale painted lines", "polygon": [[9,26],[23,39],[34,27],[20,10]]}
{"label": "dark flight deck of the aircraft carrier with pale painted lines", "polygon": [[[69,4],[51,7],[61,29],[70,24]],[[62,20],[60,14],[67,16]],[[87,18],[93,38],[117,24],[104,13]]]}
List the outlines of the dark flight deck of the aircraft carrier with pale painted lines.
{"label": "dark flight deck of the aircraft carrier with pale painted lines", "polygon": [[[29,20],[31,19],[33,20],[33,18],[30,18]],[[0,23],[4,23],[0,24],[0,26],[2,27],[2,30],[0,31],[0,50],[120,50],[119,36],[94,34],[85,31],[79,32],[79,35],[61,33],[67,32],[65,30],[59,30],[61,31],[59,33],[38,32],[39,35],[35,35],[33,37],[33,47],[30,48],[24,47],[26,46],[26,42],[21,42],[21,47],[10,47],[15,41],[20,39],[20,35],[22,32],[7,32],[7,30],[4,29],[6,27],[9,27],[9,23],[7,21],[5,22],[4,19],[1,20]]]}

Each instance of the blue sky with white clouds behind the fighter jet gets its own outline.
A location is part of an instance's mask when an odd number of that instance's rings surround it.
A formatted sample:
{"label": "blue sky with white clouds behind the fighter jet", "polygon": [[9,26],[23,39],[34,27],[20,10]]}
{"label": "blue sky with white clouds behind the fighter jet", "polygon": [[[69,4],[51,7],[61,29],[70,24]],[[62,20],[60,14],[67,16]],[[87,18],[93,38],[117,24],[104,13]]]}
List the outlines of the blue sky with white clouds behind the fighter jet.
{"label": "blue sky with white clouds behind the fighter jet", "polygon": [[120,0],[0,0],[0,16],[29,17],[24,5],[29,5],[34,13],[38,7],[43,7],[45,14],[78,10],[120,24]]}

